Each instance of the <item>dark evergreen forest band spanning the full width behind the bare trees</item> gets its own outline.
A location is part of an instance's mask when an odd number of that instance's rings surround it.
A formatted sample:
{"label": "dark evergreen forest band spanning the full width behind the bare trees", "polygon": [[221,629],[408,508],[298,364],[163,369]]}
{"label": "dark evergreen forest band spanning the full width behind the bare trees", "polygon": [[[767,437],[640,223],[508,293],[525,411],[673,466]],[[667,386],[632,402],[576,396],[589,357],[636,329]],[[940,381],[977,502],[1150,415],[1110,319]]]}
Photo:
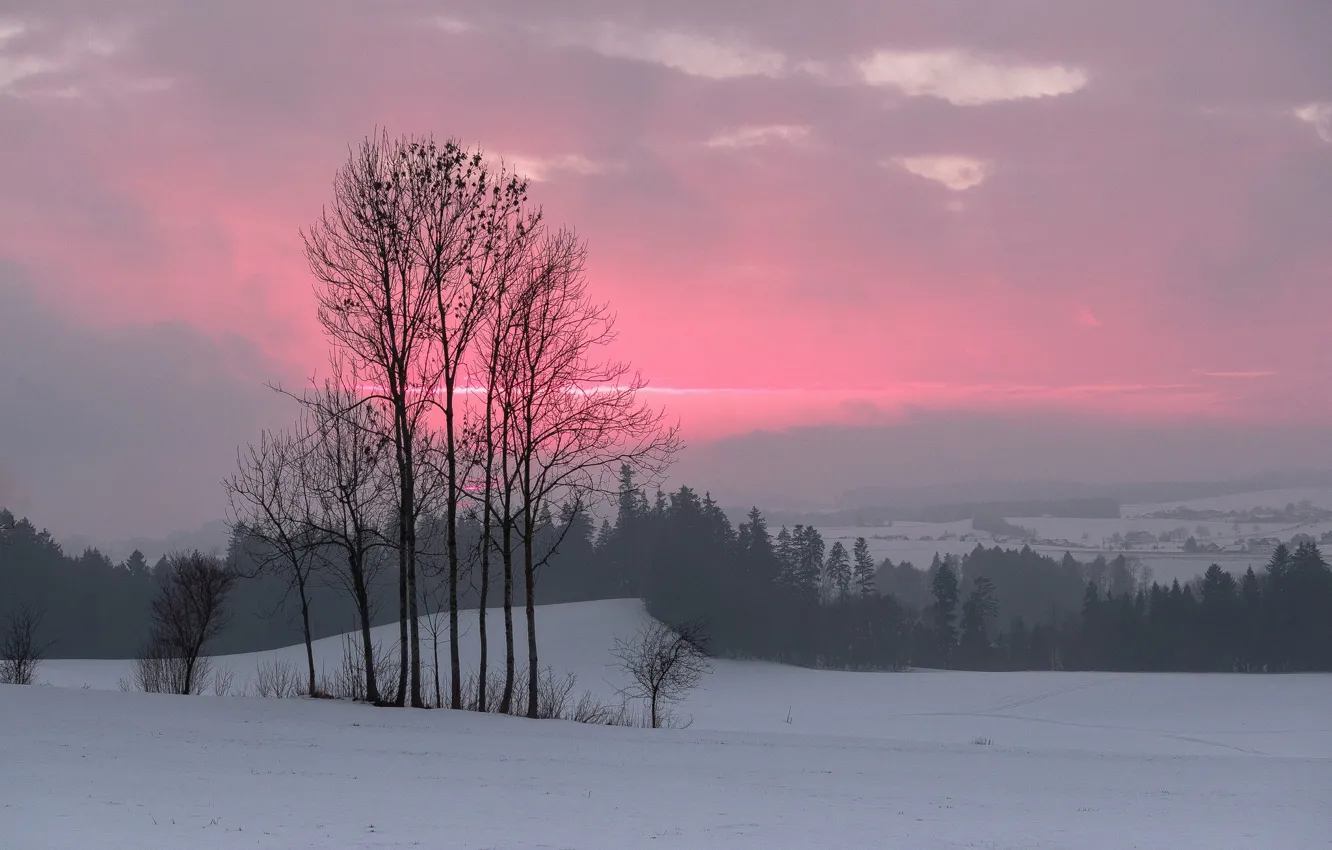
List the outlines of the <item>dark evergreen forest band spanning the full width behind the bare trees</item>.
{"label": "dark evergreen forest band spanning the full width behind the bare trees", "polygon": [[[137,650],[157,569],[137,554],[123,564],[92,549],[67,556],[27,520],[0,513],[0,598],[45,612],[53,655]],[[437,528],[422,526],[424,596],[442,589]],[[1212,565],[1169,586],[1146,584],[1122,556],[1084,564],[1028,548],[978,545],[916,569],[874,562],[863,544],[827,548],[811,526],[773,533],[758,509],[734,526],[689,488],[649,501],[627,472],[614,522],[594,528],[583,512],[545,509],[539,529],[543,602],[642,597],[662,621],[706,620],[711,651],[725,657],[839,669],[1332,670],[1332,570],[1312,542],[1277,548],[1260,572]],[[460,549],[474,552],[477,540],[465,516]],[[229,561],[242,568],[248,552],[236,537]],[[468,564],[465,608],[476,605],[478,572]],[[213,651],[298,642],[286,590],[272,576],[241,582]],[[376,622],[394,621],[394,590],[373,588]],[[313,589],[310,614],[316,638],[354,629],[336,588]]]}

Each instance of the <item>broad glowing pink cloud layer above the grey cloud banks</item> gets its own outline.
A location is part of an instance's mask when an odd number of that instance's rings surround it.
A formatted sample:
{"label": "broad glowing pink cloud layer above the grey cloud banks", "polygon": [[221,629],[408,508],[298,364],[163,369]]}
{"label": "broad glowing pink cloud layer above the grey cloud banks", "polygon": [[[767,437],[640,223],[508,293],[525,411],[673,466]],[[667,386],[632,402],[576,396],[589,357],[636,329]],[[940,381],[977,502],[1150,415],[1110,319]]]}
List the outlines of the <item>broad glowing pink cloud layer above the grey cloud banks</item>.
{"label": "broad glowing pink cloud layer above the grey cloud banks", "polygon": [[[891,19],[888,45],[888,13],[863,4],[762,20],[702,3],[671,20],[646,4],[622,19],[517,1],[131,7],[107,25],[133,39],[88,73],[172,85],[0,99],[16,128],[0,141],[0,256],[80,321],[181,320],[308,370],[322,341],[298,229],[358,136],[434,131],[542,180],[549,214],[589,238],[617,353],[662,388],[710,390],[669,398],[698,433],[842,421],[862,397],[1243,416],[1225,388],[1179,385],[1237,348],[1276,388],[1332,358],[1315,320],[1332,306],[1315,224],[1332,177],[1308,145],[1283,149],[1288,119],[1241,133],[1193,107],[1231,87],[1288,116],[1323,95],[1279,63],[1252,80],[1217,60],[1305,49],[1237,13],[1211,16],[1179,59],[1196,73],[1160,59],[1144,75],[1166,36],[1098,9],[1048,4],[1042,39],[979,7],[962,23],[922,11]],[[84,25],[21,12],[55,45]],[[797,72],[875,55],[872,85]],[[884,92],[906,96],[884,108]],[[967,156],[940,171],[928,152],[947,151]],[[940,183],[966,189],[964,209]]]}

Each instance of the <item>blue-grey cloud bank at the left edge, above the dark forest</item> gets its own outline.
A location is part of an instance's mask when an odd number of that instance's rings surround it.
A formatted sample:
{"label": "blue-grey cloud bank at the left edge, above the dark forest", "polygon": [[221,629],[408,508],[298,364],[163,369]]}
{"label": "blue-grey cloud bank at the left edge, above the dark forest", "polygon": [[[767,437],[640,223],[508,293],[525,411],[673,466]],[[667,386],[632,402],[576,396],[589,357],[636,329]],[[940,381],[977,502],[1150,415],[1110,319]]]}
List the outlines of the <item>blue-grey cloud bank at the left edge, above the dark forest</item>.
{"label": "blue-grey cloud bank at the left edge, above the dark forest", "polygon": [[0,262],[0,502],[60,533],[119,540],[222,513],[236,446],[292,418],[244,340],[182,324],[97,330]]}

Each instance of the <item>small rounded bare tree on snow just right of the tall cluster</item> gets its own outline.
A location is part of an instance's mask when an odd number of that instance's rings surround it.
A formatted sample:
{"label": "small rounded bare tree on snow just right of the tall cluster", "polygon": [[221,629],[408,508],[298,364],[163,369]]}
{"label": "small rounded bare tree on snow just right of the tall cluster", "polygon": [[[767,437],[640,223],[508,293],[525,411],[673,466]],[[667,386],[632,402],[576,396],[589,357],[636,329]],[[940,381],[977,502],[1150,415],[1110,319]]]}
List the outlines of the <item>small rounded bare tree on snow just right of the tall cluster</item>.
{"label": "small rounded bare tree on snow just right of the tall cluster", "polygon": [[653,729],[661,726],[663,709],[683,699],[711,670],[698,620],[675,628],[654,620],[631,639],[617,639],[613,651],[630,678],[621,693],[649,703]]}

